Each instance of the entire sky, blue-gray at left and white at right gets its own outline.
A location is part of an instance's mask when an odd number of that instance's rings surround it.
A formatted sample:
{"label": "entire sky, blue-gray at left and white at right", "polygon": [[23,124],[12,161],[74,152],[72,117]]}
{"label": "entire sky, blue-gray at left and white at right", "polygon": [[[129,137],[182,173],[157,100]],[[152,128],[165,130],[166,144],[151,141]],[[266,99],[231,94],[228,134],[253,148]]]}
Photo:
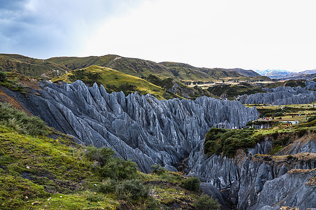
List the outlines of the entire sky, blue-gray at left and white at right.
{"label": "entire sky, blue-gray at left and white at right", "polygon": [[315,0],[0,0],[0,52],[316,69]]}

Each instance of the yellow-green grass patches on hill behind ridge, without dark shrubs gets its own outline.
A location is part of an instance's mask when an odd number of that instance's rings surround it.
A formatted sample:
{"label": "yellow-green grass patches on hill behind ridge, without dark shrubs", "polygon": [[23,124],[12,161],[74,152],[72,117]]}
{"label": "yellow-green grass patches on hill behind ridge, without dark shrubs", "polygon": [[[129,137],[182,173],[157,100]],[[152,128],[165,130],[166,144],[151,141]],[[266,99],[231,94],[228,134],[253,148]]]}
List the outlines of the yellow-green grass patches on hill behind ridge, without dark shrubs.
{"label": "yellow-green grass patches on hill behind ridge, without dark shrubs", "polygon": [[[136,85],[137,91],[141,94],[153,94],[154,96],[162,99],[162,95],[164,94],[164,90],[162,87],[154,85],[147,80],[143,80],[136,76],[130,76],[125,73],[121,73],[114,69],[109,69],[101,66],[89,66],[84,71],[89,73],[99,73],[95,82],[98,84],[103,84],[107,90],[111,90],[114,87],[120,87],[120,85]],[[74,75],[74,71],[70,71],[69,73],[64,74],[60,78],[54,78],[52,81],[57,82],[58,80],[63,80],[67,83],[74,82],[77,80],[76,78],[72,78],[71,75]]]}

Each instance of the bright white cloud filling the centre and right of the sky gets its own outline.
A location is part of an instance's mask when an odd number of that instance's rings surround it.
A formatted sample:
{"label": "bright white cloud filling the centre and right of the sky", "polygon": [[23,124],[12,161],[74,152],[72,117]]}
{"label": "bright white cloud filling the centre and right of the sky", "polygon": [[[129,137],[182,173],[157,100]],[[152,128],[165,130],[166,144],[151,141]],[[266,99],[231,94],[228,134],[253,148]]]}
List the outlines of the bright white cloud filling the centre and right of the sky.
{"label": "bright white cloud filling the centre and right of the sky", "polygon": [[314,1],[143,1],[91,34],[81,55],[245,69],[315,69]]}

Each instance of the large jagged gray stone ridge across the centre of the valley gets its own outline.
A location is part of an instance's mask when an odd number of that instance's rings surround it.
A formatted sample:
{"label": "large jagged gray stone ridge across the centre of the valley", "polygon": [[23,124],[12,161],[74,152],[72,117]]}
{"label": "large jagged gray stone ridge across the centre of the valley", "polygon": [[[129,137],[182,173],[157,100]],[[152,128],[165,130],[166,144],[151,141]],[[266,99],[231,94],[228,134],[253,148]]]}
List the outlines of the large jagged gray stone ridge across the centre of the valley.
{"label": "large jagged gray stone ridge across the centre of the valley", "polygon": [[109,94],[96,83],[87,87],[81,80],[44,86],[41,96],[22,102],[29,111],[81,143],[113,147],[143,172],[154,164],[176,170],[218,123],[240,128],[258,118],[256,109],[211,97],[159,101],[137,92],[126,97],[123,92]]}

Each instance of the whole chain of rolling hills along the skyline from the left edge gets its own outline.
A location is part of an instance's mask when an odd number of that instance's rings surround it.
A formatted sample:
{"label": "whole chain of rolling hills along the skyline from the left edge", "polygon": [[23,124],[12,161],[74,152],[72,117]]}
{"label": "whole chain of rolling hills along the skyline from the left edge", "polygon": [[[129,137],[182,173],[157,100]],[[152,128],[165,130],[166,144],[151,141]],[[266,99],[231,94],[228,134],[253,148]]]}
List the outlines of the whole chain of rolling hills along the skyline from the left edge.
{"label": "whole chain of rolling hills along the skyline from the left edge", "polygon": [[1,71],[15,71],[27,76],[39,76],[46,79],[92,65],[108,67],[139,78],[154,74],[159,78],[173,78],[178,81],[270,80],[251,70],[199,68],[183,63],[157,63],[119,55],[34,59],[23,55],[0,54]]}

